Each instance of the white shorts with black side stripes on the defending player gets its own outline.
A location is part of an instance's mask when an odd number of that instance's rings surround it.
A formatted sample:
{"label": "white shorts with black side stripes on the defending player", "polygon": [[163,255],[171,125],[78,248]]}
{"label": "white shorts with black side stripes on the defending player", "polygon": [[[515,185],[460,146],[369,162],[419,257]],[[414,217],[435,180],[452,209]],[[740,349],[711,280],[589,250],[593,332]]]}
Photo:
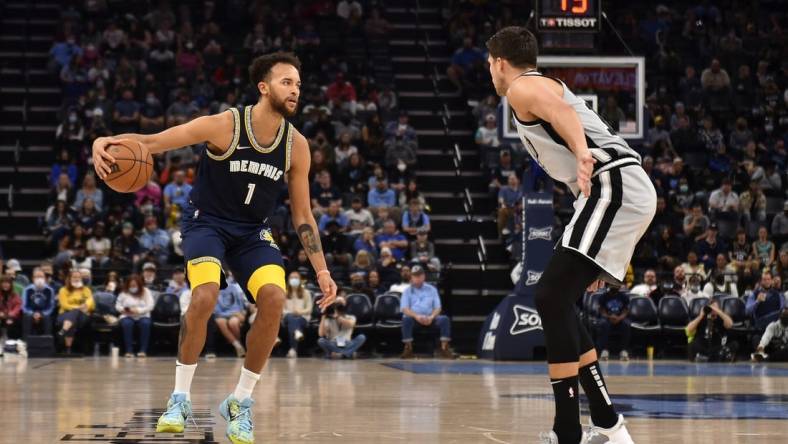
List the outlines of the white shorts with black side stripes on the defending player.
{"label": "white shorts with black side stripes on the defending player", "polygon": [[561,246],[579,252],[604,271],[600,279],[621,284],[640,238],[657,211],[657,193],[640,165],[598,173],[591,196],[582,193]]}

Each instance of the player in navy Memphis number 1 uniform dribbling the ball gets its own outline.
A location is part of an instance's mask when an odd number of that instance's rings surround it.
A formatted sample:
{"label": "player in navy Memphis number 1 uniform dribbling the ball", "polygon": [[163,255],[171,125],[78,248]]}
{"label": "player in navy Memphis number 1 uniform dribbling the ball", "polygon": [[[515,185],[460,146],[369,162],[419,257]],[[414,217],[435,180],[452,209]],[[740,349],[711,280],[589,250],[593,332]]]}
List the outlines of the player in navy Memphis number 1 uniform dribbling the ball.
{"label": "player in navy Memphis number 1 uniform dribbling the ball", "polygon": [[191,414],[191,381],[208,318],[219,289],[226,285],[224,262],[257,305],[258,314],[246,337],[240,380],[219,412],[228,421],[231,442],[254,442],[252,390],[274,346],[285,301],[282,255],[266,225],[285,178],[293,225],[323,292],[320,308],[335,299],[336,284],[326,268],[310,208],[309,146],[286,120],[298,107],[299,69],[291,53],[258,57],[249,67],[250,80],[260,93],[256,104],[199,117],[157,134],[121,134],[93,143],[96,172],[105,178],[114,163],[106,148],[120,139],[137,140],[152,154],[207,142],[189,205],[183,209],[182,245],[192,300],[181,323],[175,389],[159,418],[158,432],[183,432]]}

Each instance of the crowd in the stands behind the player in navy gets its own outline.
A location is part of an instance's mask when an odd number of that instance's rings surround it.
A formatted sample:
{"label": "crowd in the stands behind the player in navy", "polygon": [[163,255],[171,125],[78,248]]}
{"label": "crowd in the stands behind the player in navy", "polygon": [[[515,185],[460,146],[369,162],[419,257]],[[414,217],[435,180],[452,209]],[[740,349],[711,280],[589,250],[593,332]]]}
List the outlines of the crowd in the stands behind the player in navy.
{"label": "crowd in the stands behind the player in navy", "polygon": [[[76,332],[95,315],[92,292],[108,292],[117,296],[113,308],[125,353],[131,356],[136,344],[137,355],[145,355],[159,295],[174,293],[183,310],[188,306],[188,284],[178,267],[179,219],[205,147],[157,156],[148,184],[119,194],[97,183],[91,143],[252,104],[258,93],[248,84],[246,66],[254,56],[277,50],[293,51],[302,61],[301,112],[293,123],[312,150],[313,211],[340,292],[364,293],[374,303],[412,264],[428,269],[431,281],[439,278],[428,206],[414,174],[416,131],[398,108],[391,79],[379,83],[369,58],[348,50],[359,44],[364,49],[365,41],[387,45],[383,39],[391,27],[380,5],[266,3],[204,1],[194,7],[162,0],[150,9],[130,3],[110,10],[105,2],[88,2],[64,10],[48,65],[63,94],[50,206],[41,220],[52,257],[43,283],[37,269],[39,280],[15,293],[26,296],[25,304],[31,301],[25,332],[40,326],[36,331],[46,333],[56,321],[70,349]],[[289,276],[283,337],[288,355],[295,356],[318,295],[288,204],[283,187],[270,222]],[[253,309],[231,284],[211,320],[239,356],[245,353],[241,330]],[[0,314],[17,317],[15,308]],[[342,328],[325,329],[342,336]]]}

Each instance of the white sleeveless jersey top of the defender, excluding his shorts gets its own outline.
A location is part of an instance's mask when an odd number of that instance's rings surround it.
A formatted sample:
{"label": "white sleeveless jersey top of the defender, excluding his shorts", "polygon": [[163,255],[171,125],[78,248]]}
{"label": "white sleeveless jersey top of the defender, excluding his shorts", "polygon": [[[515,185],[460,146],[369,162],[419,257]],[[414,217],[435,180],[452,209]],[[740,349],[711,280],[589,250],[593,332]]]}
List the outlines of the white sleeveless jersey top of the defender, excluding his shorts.
{"label": "white sleeveless jersey top of the defender, excluding his shorts", "polygon": [[[542,74],[529,71],[521,75],[541,76]],[[585,100],[574,95],[564,82],[552,77],[550,79],[561,84],[564,89],[562,97],[564,102],[571,106],[580,118],[586,143],[591,155],[597,161],[594,164],[594,175],[615,166],[640,163],[640,155],[589,108]],[[577,196],[579,193],[577,159],[566,141],[549,122],[542,119],[526,122],[520,120],[514,113],[514,120],[517,134],[531,157],[550,177],[565,183]]]}

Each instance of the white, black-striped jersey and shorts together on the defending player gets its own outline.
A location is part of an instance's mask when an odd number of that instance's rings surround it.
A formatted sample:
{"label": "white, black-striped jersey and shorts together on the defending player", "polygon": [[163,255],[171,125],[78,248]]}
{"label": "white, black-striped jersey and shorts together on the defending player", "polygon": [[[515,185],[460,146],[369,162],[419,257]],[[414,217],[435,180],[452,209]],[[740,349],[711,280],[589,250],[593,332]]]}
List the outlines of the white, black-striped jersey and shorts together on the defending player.
{"label": "white, black-striped jersey and shorts together on the defending player", "polygon": [[[522,75],[541,74],[530,71]],[[592,260],[601,269],[601,279],[620,285],[635,246],[654,218],[657,194],[640,167],[640,155],[583,99],[572,94],[560,80],[553,80],[561,84],[563,100],[580,118],[586,143],[596,159],[590,196],[580,193],[575,154],[549,122],[523,122],[515,114],[517,133],[542,169],[577,196],[575,214],[564,228],[559,245]]]}

